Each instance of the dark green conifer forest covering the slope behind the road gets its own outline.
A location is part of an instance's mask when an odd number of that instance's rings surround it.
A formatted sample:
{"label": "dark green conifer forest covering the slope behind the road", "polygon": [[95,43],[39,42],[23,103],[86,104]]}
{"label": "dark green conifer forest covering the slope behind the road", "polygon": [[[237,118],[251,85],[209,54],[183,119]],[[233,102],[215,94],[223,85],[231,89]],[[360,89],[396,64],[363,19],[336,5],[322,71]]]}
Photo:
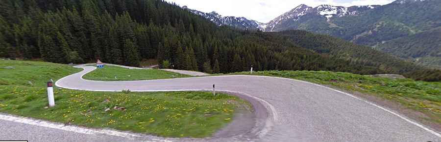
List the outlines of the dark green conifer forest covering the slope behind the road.
{"label": "dark green conifer forest covering the slope behind the road", "polygon": [[440,81],[426,69],[366,46],[305,31],[264,33],[214,23],[162,0],[2,0],[0,57],[57,63],[139,66],[230,73],[326,70],[402,74]]}

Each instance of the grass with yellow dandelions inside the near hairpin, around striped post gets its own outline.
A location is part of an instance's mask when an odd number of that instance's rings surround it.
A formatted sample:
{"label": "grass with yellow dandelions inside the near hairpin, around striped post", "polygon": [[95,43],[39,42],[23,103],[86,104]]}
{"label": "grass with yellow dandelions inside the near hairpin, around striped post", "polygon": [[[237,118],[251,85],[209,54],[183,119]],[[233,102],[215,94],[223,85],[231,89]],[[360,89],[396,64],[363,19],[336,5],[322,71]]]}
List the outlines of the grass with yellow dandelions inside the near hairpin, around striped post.
{"label": "grass with yellow dandelions inside the near hairpin, around striped post", "polygon": [[0,60],[0,112],[93,128],[114,128],[165,137],[209,137],[249,105],[208,92],[89,92],[54,88],[46,81],[80,71],[68,65]]}

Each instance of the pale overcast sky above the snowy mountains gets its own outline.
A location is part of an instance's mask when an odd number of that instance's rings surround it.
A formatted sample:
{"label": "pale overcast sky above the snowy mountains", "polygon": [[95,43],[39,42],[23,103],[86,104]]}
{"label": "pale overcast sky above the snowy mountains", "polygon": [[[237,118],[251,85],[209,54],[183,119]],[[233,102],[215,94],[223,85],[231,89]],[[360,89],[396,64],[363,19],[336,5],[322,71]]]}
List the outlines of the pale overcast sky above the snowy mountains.
{"label": "pale overcast sky above the snowy mountains", "polygon": [[384,5],[394,0],[167,0],[180,6],[202,12],[216,11],[222,16],[245,17],[259,22],[270,20],[300,4],[316,7],[321,4],[335,6]]}

